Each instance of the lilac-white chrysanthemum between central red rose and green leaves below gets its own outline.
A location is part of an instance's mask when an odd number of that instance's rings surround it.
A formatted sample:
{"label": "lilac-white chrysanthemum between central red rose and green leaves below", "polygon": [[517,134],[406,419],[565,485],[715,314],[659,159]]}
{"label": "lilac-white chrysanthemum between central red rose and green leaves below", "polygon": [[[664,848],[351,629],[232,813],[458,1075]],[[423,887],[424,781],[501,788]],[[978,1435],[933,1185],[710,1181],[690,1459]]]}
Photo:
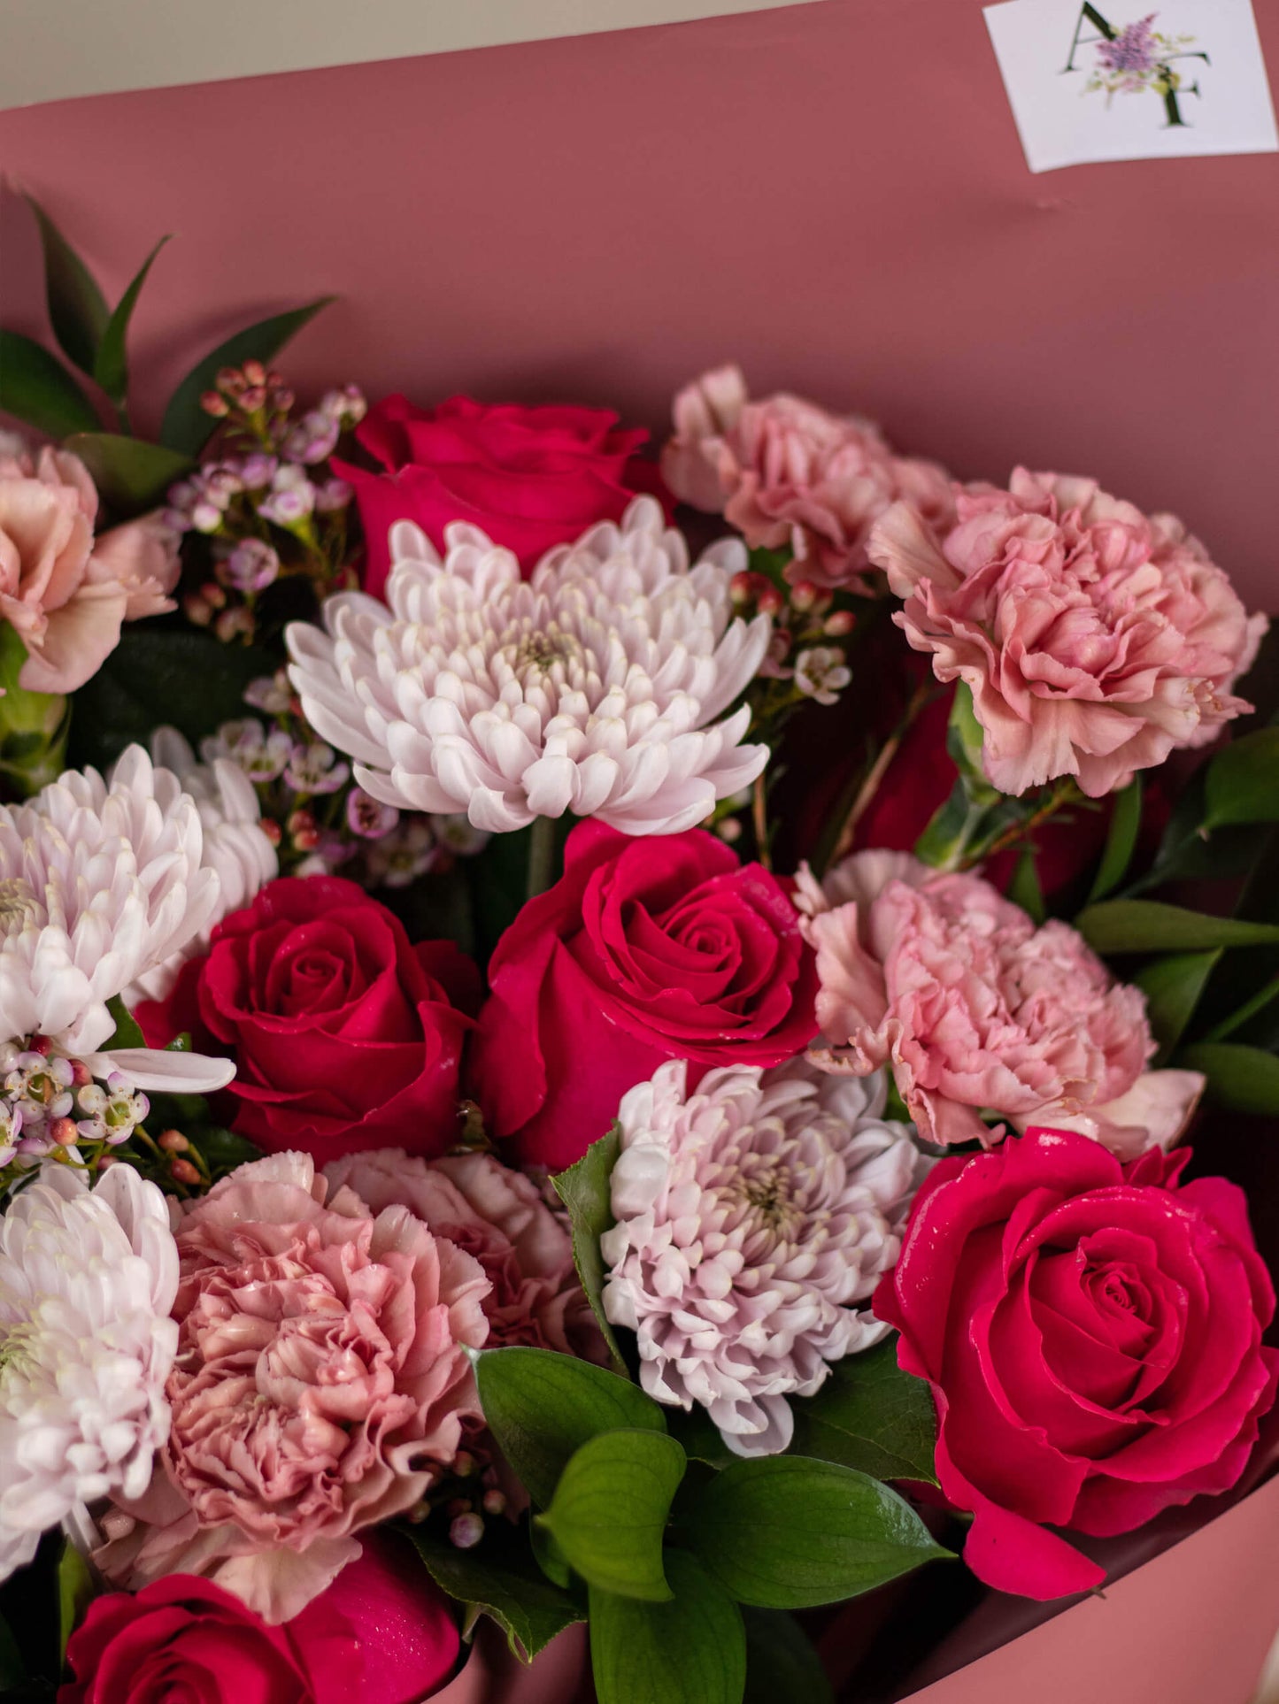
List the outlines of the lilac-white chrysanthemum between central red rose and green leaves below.
{"label": "lilac-white chrysanthemum between central red rose and green leaves below", "polygon": [[604,1309],[638,1334],[651,1397],[701,1402],[730,1450],[773,1455],[786,1397],[887,1333],[858,1304],[897,1261],[928,1162],[882,1120],[883,1074],[728,1067],[694,1094],[686,1074],[672,1060],[622,1099]]}

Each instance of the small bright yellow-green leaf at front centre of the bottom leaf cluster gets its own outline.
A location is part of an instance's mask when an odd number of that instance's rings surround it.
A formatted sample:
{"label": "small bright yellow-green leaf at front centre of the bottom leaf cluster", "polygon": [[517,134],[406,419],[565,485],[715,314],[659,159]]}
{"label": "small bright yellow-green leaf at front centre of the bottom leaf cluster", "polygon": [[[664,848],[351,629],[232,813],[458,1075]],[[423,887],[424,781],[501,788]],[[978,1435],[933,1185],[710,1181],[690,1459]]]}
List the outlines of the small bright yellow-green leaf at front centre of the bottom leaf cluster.
{"label": "small bright yellow-green leaf at front centre of the bottom leaf cluster", "polygon": [[662,1602],[662,1537],[684,1462],[663,1431],[604,1431],[568,1460],[537,1520],[590,1585]]}

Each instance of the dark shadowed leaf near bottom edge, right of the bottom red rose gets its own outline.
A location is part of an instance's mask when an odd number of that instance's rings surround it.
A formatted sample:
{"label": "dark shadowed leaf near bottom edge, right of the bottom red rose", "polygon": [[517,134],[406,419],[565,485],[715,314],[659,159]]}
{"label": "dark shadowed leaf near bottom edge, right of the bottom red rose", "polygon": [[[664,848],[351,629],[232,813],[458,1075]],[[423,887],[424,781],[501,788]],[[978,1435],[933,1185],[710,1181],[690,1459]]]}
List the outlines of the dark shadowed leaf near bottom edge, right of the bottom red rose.
{"label": "dark shadowed leaf near bottom edge, right of the bottom red rose", "polygon": [[459,1551],[423,1527],[401,1530],[437,1586],[491,1615],[525,1663],[564,1627],[587,1619],[568,1592],[542,1578],[522,1528],[491,1522],[474,1551]]}

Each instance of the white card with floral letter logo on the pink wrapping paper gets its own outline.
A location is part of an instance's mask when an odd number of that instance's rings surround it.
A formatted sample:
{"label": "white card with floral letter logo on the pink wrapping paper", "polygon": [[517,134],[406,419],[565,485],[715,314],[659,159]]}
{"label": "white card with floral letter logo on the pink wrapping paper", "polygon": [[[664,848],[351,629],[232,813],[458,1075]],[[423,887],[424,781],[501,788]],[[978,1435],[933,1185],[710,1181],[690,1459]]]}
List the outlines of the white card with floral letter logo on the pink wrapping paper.
{"label": "white card with floral letter logo on the pink wrapping paper", "polygon": [[1250,0],[1004,0],[986,24],[1032,172],[1274,153]]}

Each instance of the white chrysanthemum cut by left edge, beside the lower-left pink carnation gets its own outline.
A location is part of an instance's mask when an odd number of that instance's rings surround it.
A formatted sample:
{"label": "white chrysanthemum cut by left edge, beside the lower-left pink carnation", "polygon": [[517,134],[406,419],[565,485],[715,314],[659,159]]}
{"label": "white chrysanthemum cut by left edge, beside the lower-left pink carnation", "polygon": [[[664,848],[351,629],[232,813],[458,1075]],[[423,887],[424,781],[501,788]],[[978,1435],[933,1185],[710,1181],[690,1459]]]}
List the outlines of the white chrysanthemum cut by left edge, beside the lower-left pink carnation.
{"label": "white chrysanthemum cut by left edge, beside the lower-left pink carnation", "polygon": [[169,1206],[131,1166],[46,1166],[0,1218],[0,1580],[109,1491],[143,1494],[177,1350]]}

